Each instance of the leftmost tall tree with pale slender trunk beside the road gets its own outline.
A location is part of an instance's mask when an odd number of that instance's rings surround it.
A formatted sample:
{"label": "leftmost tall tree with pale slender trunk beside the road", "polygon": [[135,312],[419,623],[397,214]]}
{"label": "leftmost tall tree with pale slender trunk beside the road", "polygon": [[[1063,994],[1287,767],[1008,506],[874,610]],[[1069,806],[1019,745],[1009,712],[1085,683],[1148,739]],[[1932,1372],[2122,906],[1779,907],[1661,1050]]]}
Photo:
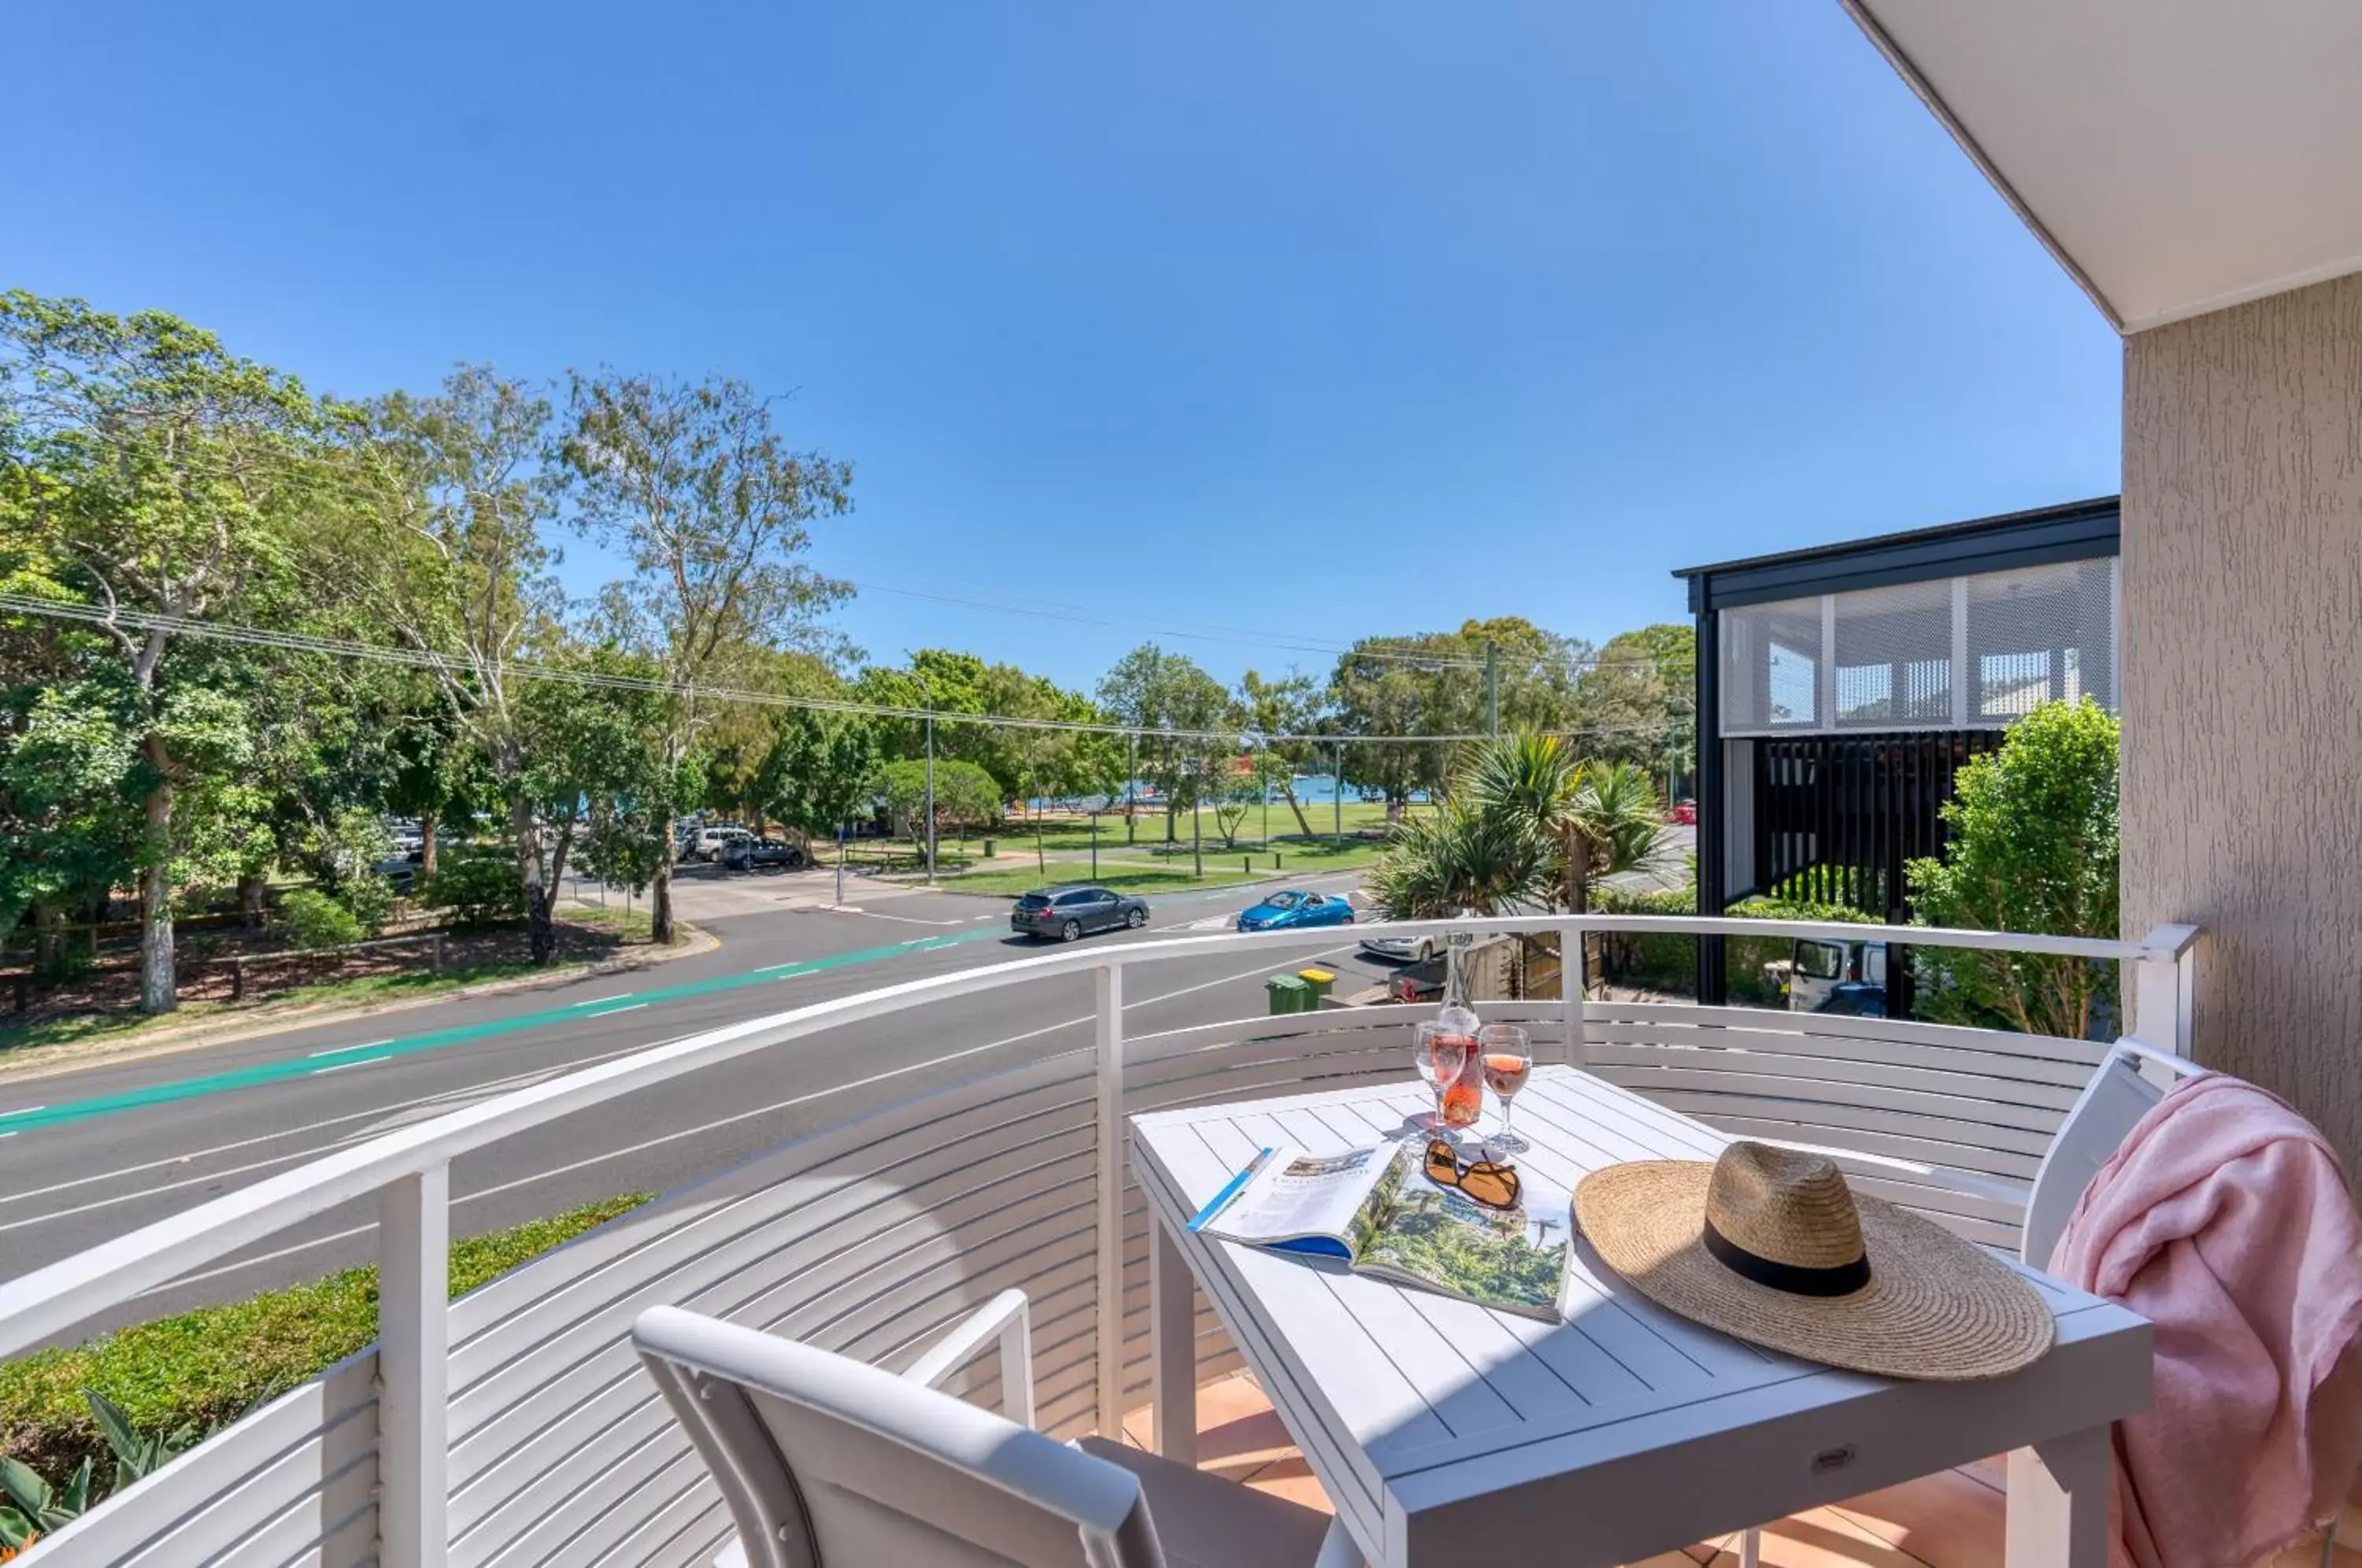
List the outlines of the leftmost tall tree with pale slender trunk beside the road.
{"label": "leftmost tall tree with pale slender trunk beside the road", "polygon": [[[182,623],[293,621],[302,522],[331,486],[319,404],[163,312],[0,295],[0,472],[9,515],[97,612],[111,649],[99,704],[137,751],[139,1006],[175,1006],[180,817],[234,786],[250,751],[224,659]],[[253,661],[246,661],[248,668]]]}

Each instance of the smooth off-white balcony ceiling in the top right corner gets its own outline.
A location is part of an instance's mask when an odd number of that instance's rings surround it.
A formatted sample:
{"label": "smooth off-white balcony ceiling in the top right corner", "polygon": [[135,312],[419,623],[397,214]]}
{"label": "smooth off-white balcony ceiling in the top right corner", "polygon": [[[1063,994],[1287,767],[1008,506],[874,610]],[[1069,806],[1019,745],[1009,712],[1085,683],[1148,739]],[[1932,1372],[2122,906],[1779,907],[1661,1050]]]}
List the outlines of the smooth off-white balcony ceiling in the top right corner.
{"label": "smooth off-white balcony ceiling in the top right corner", "polygon": [[2121,331],[2362,272],[2355,0],[1840,0]]}

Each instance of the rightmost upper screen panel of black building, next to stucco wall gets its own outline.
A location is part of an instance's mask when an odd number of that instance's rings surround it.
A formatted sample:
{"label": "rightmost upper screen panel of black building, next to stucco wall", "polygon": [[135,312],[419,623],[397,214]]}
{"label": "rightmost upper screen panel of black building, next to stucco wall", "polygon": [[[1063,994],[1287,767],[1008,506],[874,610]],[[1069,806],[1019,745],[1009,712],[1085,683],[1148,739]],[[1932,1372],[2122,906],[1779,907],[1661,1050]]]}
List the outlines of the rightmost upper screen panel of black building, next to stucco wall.
{"label": "rightmost upper screen panel of black building, next to stucco wall", "polygon": [[1968,723],[2005,725],[2053,697],[2116,706],[2107,560],[1968,579]]}

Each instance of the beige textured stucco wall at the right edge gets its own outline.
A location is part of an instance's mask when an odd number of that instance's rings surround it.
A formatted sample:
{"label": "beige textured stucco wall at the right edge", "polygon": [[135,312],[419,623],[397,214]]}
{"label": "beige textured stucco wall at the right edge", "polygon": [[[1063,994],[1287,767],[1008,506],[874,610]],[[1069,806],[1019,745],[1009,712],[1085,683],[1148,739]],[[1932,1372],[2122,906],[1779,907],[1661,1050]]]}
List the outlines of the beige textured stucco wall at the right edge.
{"label": "beige textured stucco wall at the right edge", "polygon": [[2123,352],[2123,930],[2362,1178],[2362,279]]}

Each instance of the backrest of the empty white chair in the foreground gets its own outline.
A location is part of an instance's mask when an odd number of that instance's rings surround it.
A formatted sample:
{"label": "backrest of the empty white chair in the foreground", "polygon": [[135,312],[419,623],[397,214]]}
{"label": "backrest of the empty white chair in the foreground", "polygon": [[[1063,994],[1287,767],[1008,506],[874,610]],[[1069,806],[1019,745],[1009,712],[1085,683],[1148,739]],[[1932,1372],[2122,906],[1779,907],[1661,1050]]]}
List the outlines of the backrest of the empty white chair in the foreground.
{"label": "backrest of the empty white chair in the foreground", "polygon": [[1120,1464],[718,1318],[659,1306],[631,1339],[751,1568],[1164,1568]]}

